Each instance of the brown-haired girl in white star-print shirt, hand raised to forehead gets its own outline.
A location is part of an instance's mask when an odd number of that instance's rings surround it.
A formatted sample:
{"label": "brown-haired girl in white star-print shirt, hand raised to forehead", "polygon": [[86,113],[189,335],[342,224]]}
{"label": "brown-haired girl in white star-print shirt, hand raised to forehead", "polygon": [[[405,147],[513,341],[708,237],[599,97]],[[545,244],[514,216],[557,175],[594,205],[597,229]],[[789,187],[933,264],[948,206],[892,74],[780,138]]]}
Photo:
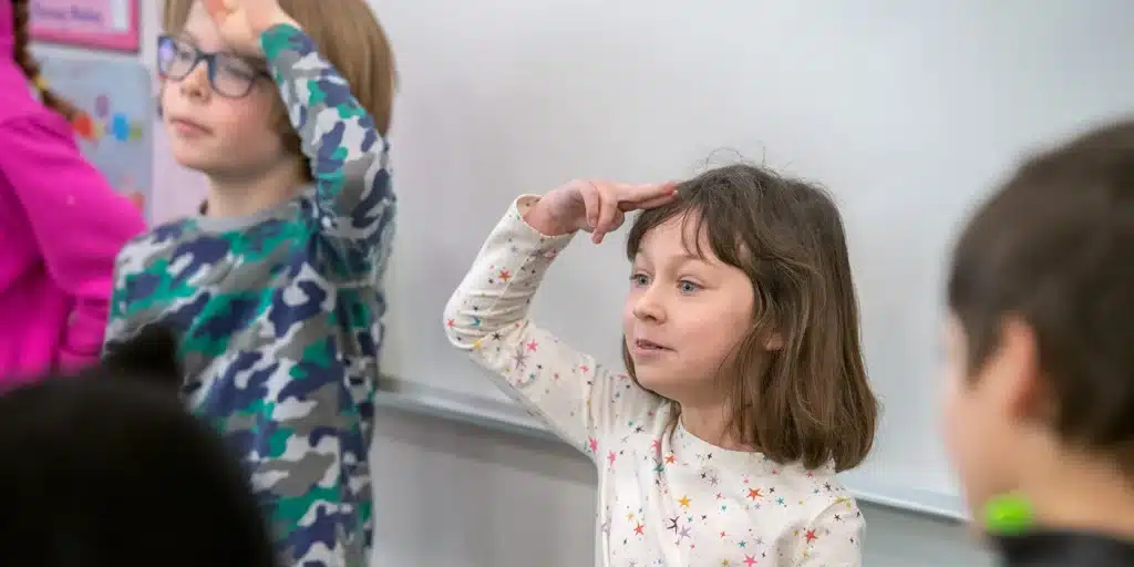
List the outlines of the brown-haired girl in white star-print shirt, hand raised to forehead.
{"label": "brown-haired girl in white star-print shirt, hand raised to forehead", "polygon": [[[633,210],[621,372],[527,310],[574,232],[599,243]],[[865,458],[877,401],[841,220],[821,191],[735,166],[522,196],[446,323],[594,460],[603,567],[861,565],[862,514],[835,473]]]}

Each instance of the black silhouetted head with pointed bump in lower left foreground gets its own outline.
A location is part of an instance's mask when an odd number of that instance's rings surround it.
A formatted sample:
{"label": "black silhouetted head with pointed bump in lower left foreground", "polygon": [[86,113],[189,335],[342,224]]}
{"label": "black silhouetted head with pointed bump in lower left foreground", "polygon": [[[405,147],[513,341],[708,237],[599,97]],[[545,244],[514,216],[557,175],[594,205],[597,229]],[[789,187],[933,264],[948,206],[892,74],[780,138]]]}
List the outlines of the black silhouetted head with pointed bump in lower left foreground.
{"label": "black silhouetted head with pointed bump in lower left foreground", "polygon": [[185,409],[169,335],[0,395],[0,549],[34,567],[273,567],[219,434]]}

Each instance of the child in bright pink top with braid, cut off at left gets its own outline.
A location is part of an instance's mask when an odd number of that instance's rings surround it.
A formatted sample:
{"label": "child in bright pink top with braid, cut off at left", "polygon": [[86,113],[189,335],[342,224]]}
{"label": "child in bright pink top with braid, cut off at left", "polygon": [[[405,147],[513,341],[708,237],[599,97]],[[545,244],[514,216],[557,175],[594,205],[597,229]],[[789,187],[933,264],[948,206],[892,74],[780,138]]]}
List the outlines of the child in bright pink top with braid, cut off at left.
{"label": "child in bright pink top with braid, cut off at left", "polygon": [[99,356],[115,256],[145,228],[44,87],[27,5],[0,0],[0,387]]}

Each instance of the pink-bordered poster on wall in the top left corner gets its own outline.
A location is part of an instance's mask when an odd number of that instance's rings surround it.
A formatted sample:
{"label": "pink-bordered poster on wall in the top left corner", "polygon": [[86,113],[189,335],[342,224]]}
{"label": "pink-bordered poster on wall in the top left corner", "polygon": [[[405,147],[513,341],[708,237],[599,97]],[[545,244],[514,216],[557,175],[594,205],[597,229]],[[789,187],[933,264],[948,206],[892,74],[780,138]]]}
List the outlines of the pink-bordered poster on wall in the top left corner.
{"label": "pink-bordered poster on wall in the top left corner", "polygon": [[31,0],[32,39],[136,53],[138,0]]}

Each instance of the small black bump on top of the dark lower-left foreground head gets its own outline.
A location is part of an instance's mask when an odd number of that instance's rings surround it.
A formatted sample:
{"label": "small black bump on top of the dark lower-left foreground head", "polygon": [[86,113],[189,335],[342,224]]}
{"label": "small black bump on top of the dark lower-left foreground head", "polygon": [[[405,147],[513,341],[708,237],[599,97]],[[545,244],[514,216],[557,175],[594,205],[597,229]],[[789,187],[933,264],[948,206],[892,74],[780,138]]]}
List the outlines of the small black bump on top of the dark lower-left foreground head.
{"label": "small black bump on top of the dark lower-left foreground head", "polygon": [[177,336],[166,327],[146,327],[129,340],[110,348],[99,370],[113,379],[180,388],[181,365],[177,358]]}

